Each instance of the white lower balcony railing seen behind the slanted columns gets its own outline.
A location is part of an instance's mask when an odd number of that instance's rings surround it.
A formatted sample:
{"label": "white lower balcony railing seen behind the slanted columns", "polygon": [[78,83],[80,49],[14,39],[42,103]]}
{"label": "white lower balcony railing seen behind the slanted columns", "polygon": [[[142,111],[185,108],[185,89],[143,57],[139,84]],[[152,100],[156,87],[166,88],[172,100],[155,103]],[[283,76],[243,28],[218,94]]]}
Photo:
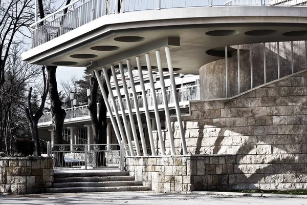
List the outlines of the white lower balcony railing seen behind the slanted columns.
{"label": "white lower balcony railing seen behind the slanted columns", "polygon": [[[172,93],[173,92],[170,90],[166,91],[168,104],[174,103]],[[156,96],[157,96],[158,106],[163,105],[164,102],[162,98],[162,91],[156,92]],[[189,100],[200,99],[200,87],[199,85],[194,85],[194,86],[178,88],[177,96],[178,96],[179,102],[185,102],[185,101],[188,102]],[[144,107],[143,106],[143,96],[138,95],[137,98],[138,98],[138,107],[143,108]],[[114,112],[114,107],[113,107],[111,99],[109,99],[108,101],[111,106],[112,112]],[[122,101],[123,101],[124,109],[128,110],[126,98],[122,98]],[[152,94],[150,93],[147,94],[147,102],[148,102],[149,110],[153,110],[153,99],[152,99]],[[121,111],[120,106],[119,106],[119,100],[118,99],[115,100],[115,103],[116,103],[116,109],[118,111]],[[130,97],[130,105],[131,105],[131,109],[134,110],[135,103],[134,103],[133,97]],[[89,114],[89,109],[87,109],[87,107],[88,106],[85,105],[85,106],[75,107],[73,109],[72,108],[65,109],[65,112],[66,112],[65,121],[76,120],[76,118],[80,119],[80,117],[89,118],[90,114]],[[47,112],[47,113],[44,113],[44,115],[39,119],[39,125],[42,126],[46,124],[51,124],[51,121],[52,121],[51,113]]]}

